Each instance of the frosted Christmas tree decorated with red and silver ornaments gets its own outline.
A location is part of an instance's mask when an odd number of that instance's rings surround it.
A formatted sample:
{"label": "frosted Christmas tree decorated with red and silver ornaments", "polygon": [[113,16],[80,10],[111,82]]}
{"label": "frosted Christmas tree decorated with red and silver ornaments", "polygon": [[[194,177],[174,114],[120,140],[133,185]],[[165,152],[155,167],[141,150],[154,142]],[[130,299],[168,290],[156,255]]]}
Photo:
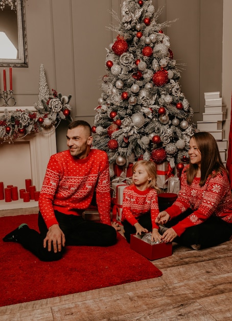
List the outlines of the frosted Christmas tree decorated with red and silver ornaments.
{"label": "frosted Christmas tree decorated with red and silver ornaments", "polygon": [[151,159],[181,168],[188,162],[196,126],[163,32],[170,23],[157,22],[160,12],[151,0],[126,0],[122,21],[114,28],[117,39],[107,49],[92,132],[94,147],[107,152],[111,165],[127,168],[133,160]]}

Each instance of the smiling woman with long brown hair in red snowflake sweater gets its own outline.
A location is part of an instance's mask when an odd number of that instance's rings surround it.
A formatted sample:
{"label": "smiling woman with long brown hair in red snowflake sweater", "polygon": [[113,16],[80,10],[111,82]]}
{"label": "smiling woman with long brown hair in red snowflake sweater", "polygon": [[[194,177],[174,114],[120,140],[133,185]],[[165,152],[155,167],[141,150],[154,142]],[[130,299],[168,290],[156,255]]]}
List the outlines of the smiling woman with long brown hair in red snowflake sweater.
{"label": "smiling woman with long brown hair in red snowflake sweater", "polygon": [[232,200],[227,171],[217,143],[207,132],[190,139],[190,164],[181,175],[181,188],[175,203],[156,218],[165,224],[165,242],[193,249],[212,247],[232,234]]}

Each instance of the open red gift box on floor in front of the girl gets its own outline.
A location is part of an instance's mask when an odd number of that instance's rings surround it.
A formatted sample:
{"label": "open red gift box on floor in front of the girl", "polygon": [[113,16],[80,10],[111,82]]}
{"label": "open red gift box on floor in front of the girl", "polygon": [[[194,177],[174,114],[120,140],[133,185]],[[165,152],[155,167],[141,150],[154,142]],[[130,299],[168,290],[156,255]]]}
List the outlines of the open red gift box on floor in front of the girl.
{"label": "open red gift box on floor in front of the girl", "polygon": [[151,245],[142,239],[143,235],[130,235],[130,248],[132,250],[147,257],[149,260],[172,255],[172,242]]}

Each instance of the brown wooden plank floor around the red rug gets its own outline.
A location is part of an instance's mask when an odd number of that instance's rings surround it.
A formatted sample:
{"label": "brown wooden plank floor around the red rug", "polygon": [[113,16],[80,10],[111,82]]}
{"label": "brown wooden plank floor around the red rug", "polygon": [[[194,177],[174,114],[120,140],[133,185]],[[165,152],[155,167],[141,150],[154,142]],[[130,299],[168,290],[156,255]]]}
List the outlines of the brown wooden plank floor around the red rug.
{"label": "brown wooden plank floor around the red rug", "polygon": [[200,251],[173,244],[172,256],[152,263],[163,276],[0,307],[0,320],[232,320],[232,241]]}

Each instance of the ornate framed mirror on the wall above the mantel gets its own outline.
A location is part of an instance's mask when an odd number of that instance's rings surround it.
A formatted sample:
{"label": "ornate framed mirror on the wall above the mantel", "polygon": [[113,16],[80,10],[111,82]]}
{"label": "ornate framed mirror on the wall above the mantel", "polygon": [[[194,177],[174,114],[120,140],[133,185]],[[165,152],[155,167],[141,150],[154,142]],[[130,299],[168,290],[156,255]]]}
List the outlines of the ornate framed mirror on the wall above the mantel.
{"label": "ornate framed mirror on the wall above the mantel", "polygon": [[28,67],[25,0],[15,0],[16,10],[9,5],[0,9],[0,66]]}

